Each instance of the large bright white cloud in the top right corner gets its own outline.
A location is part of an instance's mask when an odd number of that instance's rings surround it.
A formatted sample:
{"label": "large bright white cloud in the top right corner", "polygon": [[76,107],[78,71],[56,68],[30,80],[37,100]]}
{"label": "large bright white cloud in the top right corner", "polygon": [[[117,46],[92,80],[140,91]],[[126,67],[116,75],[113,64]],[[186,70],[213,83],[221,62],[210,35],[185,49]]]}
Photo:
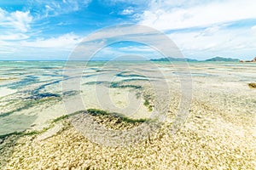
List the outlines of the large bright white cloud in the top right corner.
{"label": "large bright white cloud in the top right corner", "polygon": [[235,20],[256,18],[255,5],[254,0],[229,0],[195,4],[185,8],[173,8],[166,1],[159,4],[158,8],[151,7],[144,11],[140,23],[159,30],[210,26]]}

